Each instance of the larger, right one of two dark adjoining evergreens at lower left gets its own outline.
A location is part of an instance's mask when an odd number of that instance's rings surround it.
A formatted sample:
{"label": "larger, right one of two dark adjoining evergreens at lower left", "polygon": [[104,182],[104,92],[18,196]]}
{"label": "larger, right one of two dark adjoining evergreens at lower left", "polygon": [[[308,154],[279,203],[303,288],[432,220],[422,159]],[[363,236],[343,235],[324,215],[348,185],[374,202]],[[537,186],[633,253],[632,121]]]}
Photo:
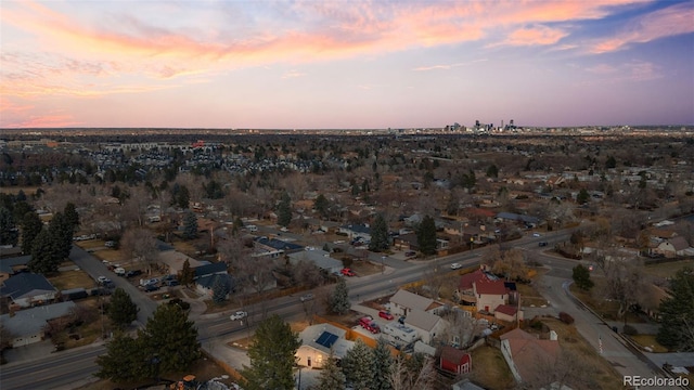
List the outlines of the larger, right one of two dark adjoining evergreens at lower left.
{"label": "larger, right one of two dark adjoining evergreens at lower left", "polygon": [[[188,320],[188,313],[178,304],[157,307],[138,337],[143,341],[147,359],[158,360],[158,364],[149,369],[182,372],[202,356],[195,323]],[[149,373],[147,377],[156,374]]]}

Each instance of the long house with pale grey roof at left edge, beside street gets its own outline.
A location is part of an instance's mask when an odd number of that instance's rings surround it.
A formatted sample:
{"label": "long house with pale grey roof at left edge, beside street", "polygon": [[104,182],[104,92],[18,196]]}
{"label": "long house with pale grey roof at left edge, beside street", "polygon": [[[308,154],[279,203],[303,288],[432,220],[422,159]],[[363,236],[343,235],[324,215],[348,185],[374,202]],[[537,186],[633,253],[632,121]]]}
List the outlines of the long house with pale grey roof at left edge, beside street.
{"label": "long house with pale grey roof at left edge, beside street", "polygon": [[12,347],[17,348],[43,340],[47,322],[68,315],[76,307],[75,302],[67,301],[20,310],[0,315],[0,323],[12,335]]}

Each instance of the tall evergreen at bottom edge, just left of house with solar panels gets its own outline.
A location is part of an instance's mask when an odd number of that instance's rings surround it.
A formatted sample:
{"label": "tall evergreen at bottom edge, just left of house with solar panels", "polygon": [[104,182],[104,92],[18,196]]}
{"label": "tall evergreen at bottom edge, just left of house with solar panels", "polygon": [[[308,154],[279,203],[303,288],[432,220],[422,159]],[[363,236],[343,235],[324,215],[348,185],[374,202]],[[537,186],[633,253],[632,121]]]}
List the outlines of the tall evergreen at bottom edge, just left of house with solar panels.
{"label": "tall evergreen at bottom edge, just left of house with solar panels", "polygon": [[294,355],[300,346],[301,340],[279,315],[261,322],[248,349],[250,366],[242,372],[244,389],[294,389]]}

